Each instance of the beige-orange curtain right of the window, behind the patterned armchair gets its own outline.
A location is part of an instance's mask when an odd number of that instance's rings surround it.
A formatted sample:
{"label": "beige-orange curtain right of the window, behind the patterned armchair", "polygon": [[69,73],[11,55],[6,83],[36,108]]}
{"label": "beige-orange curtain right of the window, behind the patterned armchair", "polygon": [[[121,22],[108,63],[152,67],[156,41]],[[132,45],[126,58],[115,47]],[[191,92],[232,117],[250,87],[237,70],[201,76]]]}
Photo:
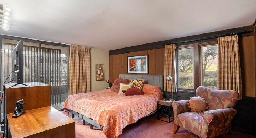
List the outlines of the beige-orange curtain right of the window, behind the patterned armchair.
{"label": "beige-orange curtain right of the window, behind the patterned armchair", "polygon": [[218,89],[235,90],[242,99],[238,35],[218,38]]}

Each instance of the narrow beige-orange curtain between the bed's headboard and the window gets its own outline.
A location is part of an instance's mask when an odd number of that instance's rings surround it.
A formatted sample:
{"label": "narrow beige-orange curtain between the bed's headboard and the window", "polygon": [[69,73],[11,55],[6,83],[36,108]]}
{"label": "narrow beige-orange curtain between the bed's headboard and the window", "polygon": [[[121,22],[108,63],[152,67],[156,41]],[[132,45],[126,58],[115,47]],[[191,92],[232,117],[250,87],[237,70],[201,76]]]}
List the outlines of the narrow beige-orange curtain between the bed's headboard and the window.
{"label": "narrow beige-orange curtain between the bed's headboard and the window", "polygon": [[[174,65],[174,57],[175,57],[175,49],[176,45],[165,45],[164,48],[164,91],[167,92],[175,92],[175,65]],[[166,77],[172,77],[172,86],[171,81],[167,81]],[[173,91],[172,91],[173,88]]]}

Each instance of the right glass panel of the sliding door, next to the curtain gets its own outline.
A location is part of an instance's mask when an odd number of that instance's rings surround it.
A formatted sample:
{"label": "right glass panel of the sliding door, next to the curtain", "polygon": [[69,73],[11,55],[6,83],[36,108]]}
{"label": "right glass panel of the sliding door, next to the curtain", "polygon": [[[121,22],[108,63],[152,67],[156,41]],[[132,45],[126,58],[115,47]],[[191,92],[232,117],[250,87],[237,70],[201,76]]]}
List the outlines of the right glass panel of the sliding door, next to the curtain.
{"label": "right glass panel of the sliding door, next to the curtain", "polygon": [[68,97],[68,47],[41,45],[41,82],[51,85],[51,103]]}

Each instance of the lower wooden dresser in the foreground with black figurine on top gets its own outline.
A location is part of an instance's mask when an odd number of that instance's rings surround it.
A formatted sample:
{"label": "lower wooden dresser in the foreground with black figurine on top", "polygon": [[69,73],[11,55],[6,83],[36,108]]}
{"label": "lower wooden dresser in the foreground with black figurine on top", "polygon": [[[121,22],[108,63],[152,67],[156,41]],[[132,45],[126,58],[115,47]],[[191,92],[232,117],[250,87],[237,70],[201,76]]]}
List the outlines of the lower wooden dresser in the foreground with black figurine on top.
{"label": "lower wooden dresser in the foreground with black figurine on top", "polygon": [[75,121],[51,106],[13,115],[7,114],[12,138],[75,138]]}

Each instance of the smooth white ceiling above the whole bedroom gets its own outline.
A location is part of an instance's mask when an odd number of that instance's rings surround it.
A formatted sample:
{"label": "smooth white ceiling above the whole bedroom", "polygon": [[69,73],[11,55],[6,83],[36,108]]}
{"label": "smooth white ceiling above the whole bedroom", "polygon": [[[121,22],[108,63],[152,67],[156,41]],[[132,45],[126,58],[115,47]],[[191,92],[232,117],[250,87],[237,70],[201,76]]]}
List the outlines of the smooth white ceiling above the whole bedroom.
{"label": "smooth white ceiling above the whole bedroom", "polygon": [[114,50],[253,24],[256,0],[1,0],[0,33]]}

